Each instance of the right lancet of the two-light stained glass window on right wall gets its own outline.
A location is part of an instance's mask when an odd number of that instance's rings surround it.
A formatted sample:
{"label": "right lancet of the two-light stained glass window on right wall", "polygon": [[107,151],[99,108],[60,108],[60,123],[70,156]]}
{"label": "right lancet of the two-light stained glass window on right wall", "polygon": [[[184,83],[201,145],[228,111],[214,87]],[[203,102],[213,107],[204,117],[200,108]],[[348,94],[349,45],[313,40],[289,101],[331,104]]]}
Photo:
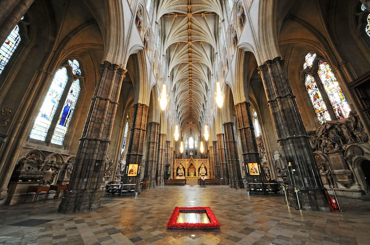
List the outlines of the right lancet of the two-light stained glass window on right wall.
{"label": "right lancet of the two-light stained glass window on right wall", "polygon": [[348,117],[350,112],[349,105],[329,65],[326,62],[319,61],[317,74],[325,88],[325,92],[327,97],[329,97],[337,119]]}

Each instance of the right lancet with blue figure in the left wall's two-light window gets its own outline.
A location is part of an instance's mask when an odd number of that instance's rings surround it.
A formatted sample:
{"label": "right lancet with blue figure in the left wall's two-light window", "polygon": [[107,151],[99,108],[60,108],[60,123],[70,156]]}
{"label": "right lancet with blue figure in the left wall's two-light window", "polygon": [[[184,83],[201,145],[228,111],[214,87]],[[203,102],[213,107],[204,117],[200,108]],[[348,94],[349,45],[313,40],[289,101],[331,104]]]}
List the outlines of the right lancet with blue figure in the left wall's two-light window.
{"label": "right lancet with blue figure in the left wall's two-light window", "polygon": [[79,85],[79,79],[76,79],[72,82],[68,91],[67,98],[64,102],[58,122],[55,126],[55,130],[51,138],[51,143],[56,145],[63,145],[64,137],[67,133],[70,119],[72,118],[72,114],[76,106],[80,90],[81,86]]}

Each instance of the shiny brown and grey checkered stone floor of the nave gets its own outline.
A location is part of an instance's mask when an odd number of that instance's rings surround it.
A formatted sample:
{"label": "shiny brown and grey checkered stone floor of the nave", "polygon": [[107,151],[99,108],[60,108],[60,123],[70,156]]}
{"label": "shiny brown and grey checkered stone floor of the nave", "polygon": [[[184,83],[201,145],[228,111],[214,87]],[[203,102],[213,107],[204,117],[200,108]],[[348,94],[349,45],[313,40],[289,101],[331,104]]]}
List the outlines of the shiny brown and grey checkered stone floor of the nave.
{"label": "shiny brown and grey checkered stone floor of the nave", "polygon": [[[296,211],[281,196],[227,186],[163,186],[103,198],[99,210],[62,215],[59,200],[0,207],[0,244],[370,244],[370,202],[340,199],[342,213]],[[210,207],[217,230],[167,230],[174,207]]]}

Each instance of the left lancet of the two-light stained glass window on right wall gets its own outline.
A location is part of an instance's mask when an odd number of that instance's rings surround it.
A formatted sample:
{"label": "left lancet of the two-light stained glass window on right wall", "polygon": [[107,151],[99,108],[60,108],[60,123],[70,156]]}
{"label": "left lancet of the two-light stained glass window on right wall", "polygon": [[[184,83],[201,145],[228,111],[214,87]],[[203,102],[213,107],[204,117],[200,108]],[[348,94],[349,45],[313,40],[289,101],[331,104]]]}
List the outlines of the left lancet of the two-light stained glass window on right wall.
{"label": "left lancet of the two-light stained glass window on right wall", "polygon": [[317,119],[320,124],[322,125],[327,120],[331,120],[313,76],[305,74],[304,86],[306,87],[309,98],[311,99],[311,103],[313,105],[313,109],[315,110]]}

